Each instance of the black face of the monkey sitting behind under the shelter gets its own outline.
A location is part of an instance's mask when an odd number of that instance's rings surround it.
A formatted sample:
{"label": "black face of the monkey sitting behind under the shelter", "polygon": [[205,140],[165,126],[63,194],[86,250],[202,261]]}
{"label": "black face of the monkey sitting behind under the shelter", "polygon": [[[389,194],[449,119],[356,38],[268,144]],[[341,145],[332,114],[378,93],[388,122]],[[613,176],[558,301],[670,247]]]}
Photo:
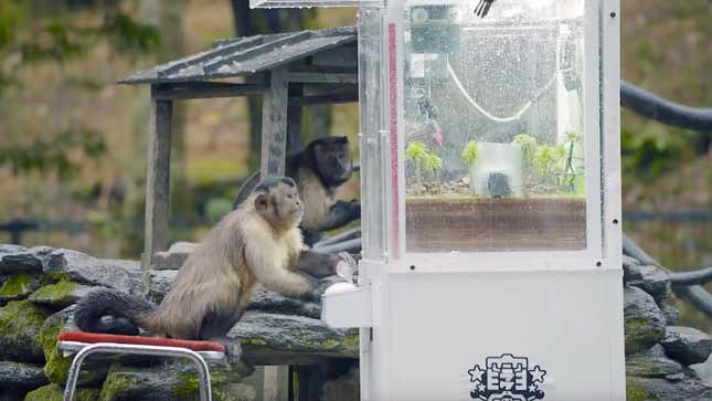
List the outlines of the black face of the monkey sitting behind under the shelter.
{"label": "black face of the monkey sitting behind under the shelter", "polygon": [[315,143],[312,157],[325,183],[338,187],[351,178],[353,163],[347,137],[320,138]]}

